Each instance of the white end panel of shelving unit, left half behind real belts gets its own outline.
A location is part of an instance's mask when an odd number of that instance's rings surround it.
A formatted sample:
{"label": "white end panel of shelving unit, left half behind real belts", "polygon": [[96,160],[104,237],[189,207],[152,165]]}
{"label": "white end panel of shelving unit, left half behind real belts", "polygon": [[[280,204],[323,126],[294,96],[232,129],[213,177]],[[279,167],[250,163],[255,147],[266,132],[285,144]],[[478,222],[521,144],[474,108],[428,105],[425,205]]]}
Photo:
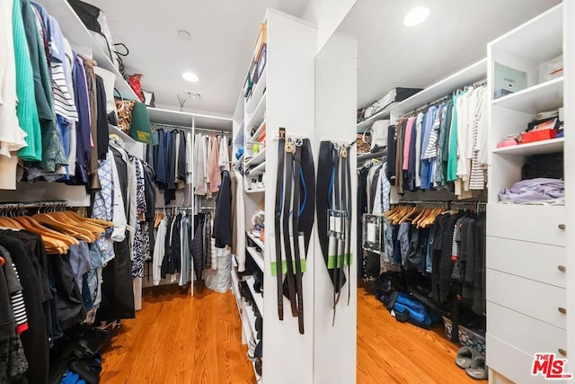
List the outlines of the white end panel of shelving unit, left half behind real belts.
{"label": "white end panel of shelving unit, left half behind real belts", "polygon": [[[284,298],[285,317],[278,318],[275,276],[274,207],[278,167],[278,129],[289,135],[310,138],[314,146],[314,58],[316,31],[312,25],[275,10],[268,11],[267,107],[266,107],[266,242],[264,285],[263,382],[292,384],[314,382],[314,263],[307,263],[303,276],[305,335],[292,317]],[[246,215],[247,216],[247,215]],[[250,214],[251,216],[251,214]],[[308,260],[313,260],[314,241]]]}

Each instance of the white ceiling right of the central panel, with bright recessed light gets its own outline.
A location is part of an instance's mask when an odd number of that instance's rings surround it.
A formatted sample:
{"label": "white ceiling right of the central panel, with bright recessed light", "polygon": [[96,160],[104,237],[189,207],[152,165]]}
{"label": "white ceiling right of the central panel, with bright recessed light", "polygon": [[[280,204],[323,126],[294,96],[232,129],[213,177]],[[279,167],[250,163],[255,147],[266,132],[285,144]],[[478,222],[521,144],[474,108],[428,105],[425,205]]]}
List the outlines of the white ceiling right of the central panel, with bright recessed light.
{"label": "white ceiling right of the central panel, with bright recessed light", "polygon": [[[560,0],[358,0],[339,32],[358,37],[358,106],[397,86],[425,88],[487,56],[486,44]],[[414,6],[429,19],[408,28]]]}

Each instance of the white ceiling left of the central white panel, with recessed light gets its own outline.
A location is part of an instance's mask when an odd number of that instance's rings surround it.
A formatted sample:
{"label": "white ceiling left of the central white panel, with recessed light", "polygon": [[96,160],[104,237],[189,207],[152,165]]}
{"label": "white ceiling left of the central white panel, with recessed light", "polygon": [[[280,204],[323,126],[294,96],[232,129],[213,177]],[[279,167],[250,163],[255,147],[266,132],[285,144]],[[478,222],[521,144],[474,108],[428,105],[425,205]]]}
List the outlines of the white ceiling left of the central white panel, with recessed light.
{"label": "white ceiling left of the central white panel, with recessed light", "polygon": [[[243,86],[266,8],[300,14],[306,0],[84,0],[100,7],[114,42],[128,46],[128,73],[141,73],[158,106],[180,110],[177,95],[199,92],[184,109],[230,116]],[[190,31],[181,40],[178,30]],[[184,71],[199,82],[181,78]]]}

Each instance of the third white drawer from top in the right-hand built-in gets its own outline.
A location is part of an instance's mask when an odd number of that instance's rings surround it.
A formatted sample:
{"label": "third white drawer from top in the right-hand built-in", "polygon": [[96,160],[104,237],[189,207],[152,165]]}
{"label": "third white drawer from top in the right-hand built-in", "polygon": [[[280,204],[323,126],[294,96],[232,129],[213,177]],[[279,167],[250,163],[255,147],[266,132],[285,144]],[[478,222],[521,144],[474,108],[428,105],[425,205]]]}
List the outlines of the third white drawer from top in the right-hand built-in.
{"label": "third white drawer from top in the right-hand built-in", "polygon": [[566,291],[563,288],[487,269],[487,300],[566,328]]}

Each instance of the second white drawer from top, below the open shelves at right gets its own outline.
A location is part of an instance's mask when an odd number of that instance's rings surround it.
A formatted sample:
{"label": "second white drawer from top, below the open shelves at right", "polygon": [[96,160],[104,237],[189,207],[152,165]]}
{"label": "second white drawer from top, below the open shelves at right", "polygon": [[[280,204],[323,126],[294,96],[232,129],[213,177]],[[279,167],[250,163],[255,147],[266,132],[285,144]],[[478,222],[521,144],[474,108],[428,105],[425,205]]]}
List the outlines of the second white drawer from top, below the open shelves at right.
{"label": "second white drawer from top, below the open shelves at right", "polygon": [[565,288],[567,251],[563,246],[487,237],[487,268]]}

